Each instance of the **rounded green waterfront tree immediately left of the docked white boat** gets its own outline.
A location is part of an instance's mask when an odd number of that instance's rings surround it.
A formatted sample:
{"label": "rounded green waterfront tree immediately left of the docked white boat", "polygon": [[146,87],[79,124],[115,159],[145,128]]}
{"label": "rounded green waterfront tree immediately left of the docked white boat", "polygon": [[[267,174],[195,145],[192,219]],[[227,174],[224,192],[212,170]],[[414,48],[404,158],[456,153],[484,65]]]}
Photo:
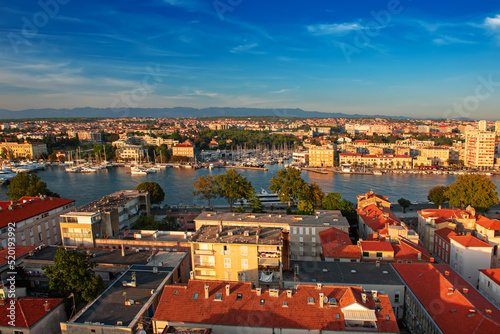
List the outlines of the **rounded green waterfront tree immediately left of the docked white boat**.
{"label": "rounded green waterfront tree immediately left of the docked white boat", "polygon": [[228,169],[225,174],[219,174],[215,178],[215,193],[229,203],[231,211],[237,200],[248,200],[254,192],[252,183],[235,169]]}

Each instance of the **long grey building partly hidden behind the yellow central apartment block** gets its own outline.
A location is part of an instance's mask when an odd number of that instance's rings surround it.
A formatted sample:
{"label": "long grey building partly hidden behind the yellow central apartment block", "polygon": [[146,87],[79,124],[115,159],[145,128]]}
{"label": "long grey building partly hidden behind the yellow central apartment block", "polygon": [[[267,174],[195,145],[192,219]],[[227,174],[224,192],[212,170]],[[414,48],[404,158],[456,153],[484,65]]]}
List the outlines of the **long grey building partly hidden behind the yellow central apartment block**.
{"label": "long grey building partly hidden behind the yellow central apartment block", "polygon": [[281,228],[289,233],[290,258],[293,260],[320,259],[320,232],[331,227],[349,232],[349,223],[338,210],[317,210],[314,216],[202,212],[194,221],[196,229],[202,225],[218,224]]}

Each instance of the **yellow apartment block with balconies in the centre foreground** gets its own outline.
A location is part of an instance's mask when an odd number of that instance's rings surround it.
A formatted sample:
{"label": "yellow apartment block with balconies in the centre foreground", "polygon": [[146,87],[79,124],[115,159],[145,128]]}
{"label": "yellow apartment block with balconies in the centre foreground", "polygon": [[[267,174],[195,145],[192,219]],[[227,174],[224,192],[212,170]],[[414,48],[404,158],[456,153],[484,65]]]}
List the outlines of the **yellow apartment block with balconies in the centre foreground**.
{"label": "yellow apartment block with balconies in the centre foreground", "polygon": [[280,285],[288,233],[276,227],[203,225],[190,239],[193,278]]}

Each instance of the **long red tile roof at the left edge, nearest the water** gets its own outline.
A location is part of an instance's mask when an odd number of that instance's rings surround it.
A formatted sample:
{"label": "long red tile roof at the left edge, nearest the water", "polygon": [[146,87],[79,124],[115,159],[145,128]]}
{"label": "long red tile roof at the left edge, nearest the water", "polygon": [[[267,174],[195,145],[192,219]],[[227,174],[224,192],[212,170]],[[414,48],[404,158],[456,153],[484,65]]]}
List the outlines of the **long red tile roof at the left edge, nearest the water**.
{"label": "long red tile roof at the left edge, nearest the water", "polygon": [[[26,203],[24,203],[26,201]],[[59,208],[69,203],[74,203],[73,199],[57,197],[23,197],[13,205],[13,210],[9,210],[11,201],[0,201],[0,228],[8,223],[17,223],[44,212]]]}

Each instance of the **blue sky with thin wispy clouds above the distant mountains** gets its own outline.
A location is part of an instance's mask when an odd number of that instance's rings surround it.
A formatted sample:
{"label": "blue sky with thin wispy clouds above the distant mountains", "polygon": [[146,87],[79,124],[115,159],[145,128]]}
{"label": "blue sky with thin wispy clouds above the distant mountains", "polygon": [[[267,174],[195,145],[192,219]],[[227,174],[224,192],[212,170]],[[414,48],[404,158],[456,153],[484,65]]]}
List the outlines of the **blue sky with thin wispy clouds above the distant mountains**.
{"label": "blue sky with thin wispy clouds above the distant mountains", "polygon": [[4,109],[500,118],[496,0],[0,0],[0,8]]}

